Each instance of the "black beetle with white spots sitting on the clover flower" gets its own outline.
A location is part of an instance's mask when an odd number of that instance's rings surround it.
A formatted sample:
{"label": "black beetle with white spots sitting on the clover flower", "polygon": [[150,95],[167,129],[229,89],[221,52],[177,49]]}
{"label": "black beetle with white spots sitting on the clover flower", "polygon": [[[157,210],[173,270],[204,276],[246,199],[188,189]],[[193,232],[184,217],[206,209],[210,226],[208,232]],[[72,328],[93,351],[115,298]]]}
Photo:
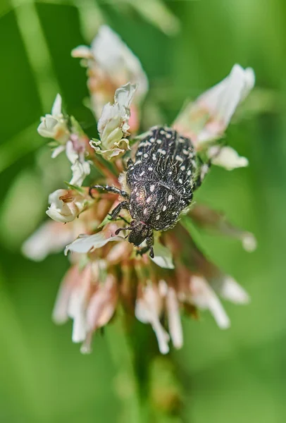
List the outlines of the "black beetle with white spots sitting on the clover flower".
{"label": "black beetle with white spots sitting on the clover flower", "polygon": [[130,231],[128,241],[139,247],[146,240],[147,246],[138,250],[154,257],[154,230],[173,228],[181,214],[187,212],[194,190],[199,188],[210,168],[194,149],[192,141],[168,127],[154,127],[141,138],[135,160],[128,160],[128,170],[121,173],[122,190],[110,185],[93,185],[92,190],[113,192],[123,201],[111,212],[116,219],[121,210],[130,212],[130,226],[118,228]]}

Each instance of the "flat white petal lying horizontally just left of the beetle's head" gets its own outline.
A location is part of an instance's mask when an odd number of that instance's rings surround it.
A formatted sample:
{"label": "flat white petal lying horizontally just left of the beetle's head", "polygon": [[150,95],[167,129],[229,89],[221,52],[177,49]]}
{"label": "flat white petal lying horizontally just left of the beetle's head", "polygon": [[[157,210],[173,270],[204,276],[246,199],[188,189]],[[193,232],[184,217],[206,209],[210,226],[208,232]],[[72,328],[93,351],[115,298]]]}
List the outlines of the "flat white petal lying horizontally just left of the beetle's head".
{"label": "flat white petal lying horizontally just left of the beetle's head", "polygon": [[69,244],[65,248],[65,255],[69,251],[73,252],[89,252],[101,248],[110,241],[123,241],[124,238],[120,235],[111,236],[106,238],[106,234],[103,232],[96,233],[95,235],[81,235],[73,243]]}

